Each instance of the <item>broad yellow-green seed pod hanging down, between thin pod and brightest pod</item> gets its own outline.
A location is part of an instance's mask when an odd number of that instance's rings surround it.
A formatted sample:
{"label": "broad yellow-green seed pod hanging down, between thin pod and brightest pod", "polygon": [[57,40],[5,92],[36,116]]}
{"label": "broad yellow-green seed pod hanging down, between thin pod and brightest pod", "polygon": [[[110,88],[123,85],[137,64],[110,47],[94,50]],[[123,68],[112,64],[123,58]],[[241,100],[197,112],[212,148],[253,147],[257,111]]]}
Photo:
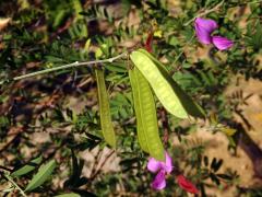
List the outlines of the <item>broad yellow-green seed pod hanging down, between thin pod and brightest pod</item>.
{"label": "broad yellow-green seed pod hanging down, between thin pod and brightest pod", "polygon": [[155,101],[150,84],[136,68],[129,71],[129,78],[133,92],[140,146],[151,157],[164,161],[165,150],[159,138]]}

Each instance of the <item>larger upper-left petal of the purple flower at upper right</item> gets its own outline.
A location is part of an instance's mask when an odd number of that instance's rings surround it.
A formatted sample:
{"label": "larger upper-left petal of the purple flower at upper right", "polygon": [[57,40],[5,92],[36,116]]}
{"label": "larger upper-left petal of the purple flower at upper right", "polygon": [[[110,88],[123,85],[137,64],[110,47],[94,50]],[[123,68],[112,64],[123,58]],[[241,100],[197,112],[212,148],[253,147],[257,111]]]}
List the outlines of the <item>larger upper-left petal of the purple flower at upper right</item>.
{"label": "larger upper-left petal of the purple flower at upper right", "polygon": [[205,20],[196,18],[194,21],[194,28],[196,32],[198,39],[202,44],[211,44],[211,33],[218,27],[217,23],[213,20]]}

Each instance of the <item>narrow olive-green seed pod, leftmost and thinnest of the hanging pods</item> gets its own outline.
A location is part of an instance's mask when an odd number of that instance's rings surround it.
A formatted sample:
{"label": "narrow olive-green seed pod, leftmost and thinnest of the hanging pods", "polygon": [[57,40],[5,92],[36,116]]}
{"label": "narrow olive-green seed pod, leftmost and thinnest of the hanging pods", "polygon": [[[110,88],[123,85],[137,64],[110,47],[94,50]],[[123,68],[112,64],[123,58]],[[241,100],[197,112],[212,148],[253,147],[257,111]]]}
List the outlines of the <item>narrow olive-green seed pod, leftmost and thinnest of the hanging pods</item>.
{"label": "narrow olive-green seed pod, leftmost and thinnest of the hanging pods", "polygon": [[115,148],[117,142],[111,123],[109,97],[106,90],[104,70],[96,69],[95,74],[97,82],[102,132],[106,142]]}

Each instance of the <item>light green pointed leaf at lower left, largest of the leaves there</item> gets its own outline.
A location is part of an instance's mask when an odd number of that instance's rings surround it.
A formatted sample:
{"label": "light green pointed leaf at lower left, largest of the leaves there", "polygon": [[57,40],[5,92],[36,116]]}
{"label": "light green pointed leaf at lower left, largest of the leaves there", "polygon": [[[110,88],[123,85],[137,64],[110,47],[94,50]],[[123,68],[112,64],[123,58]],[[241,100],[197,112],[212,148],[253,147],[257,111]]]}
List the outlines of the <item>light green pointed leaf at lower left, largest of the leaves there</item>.
{"label": "light green pointed leaf at lower left, largest of the leaves there", "polygon": [[47,178],[51,175],[55,167],[56,167],[55,160],[49,161],[45,165],[41,165],[38,172],[34,175],[33,179],[26,186],[25,192],[33,190],[43,185],[47,181]]}

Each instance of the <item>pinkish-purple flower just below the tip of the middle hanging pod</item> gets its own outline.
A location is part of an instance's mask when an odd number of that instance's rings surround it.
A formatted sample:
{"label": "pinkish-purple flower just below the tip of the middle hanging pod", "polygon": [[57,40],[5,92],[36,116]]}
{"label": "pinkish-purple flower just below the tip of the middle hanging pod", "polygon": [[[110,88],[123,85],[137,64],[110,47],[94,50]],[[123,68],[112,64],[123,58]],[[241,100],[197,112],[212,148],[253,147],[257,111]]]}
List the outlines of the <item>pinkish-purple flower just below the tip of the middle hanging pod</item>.
{"label": "pinkish-purple flower just below the tip of the middle hanging pod", "polygon": [[166,174],[170,174],[172,171],[172,161],[168,153],[165,153],[166,161],[157,161],[154,158],[151,158],[147,163],[147,170],[156,173],[154,181],[152,182],[151,186],[154,189],[160,190],[166,187]]}

